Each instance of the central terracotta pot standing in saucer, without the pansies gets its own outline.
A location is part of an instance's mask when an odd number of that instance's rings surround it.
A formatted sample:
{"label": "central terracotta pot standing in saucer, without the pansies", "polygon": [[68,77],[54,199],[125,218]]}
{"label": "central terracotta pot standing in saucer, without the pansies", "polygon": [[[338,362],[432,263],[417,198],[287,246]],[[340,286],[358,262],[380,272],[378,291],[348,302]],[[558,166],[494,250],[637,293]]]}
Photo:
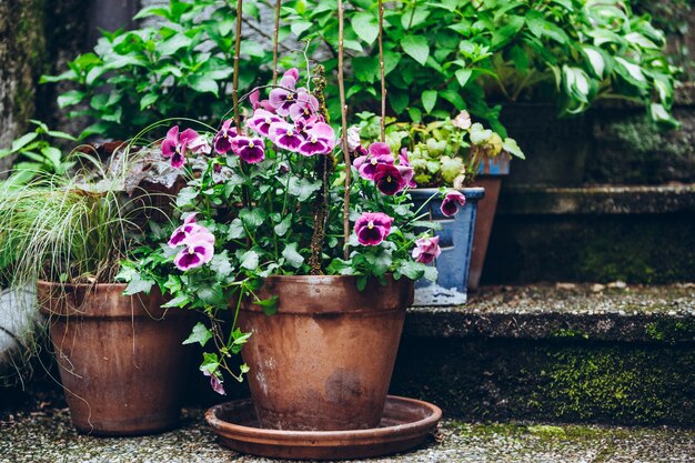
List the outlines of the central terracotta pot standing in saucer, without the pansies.
{"label": "central terracotta pot standing in saucer, without the pansies", "polygon": [[379,425],[413,283],[387,278],[364,291],[354,276],[271,276],[259,296],[278,313],[244,304],[242,351],[262,427],[363,430]]}

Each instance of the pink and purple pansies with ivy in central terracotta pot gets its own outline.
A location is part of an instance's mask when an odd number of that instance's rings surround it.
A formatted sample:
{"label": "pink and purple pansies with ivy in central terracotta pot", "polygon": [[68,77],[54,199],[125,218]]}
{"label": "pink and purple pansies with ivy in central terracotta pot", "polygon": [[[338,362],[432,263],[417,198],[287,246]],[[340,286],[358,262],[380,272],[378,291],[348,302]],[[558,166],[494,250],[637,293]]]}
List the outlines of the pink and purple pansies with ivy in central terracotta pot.
{"label": "pink and purple pansies with ivy in central terracotta pot", "polygon": [[[200,370],[220,393],[225,374],[248,373],[262,426],[369,429],[384,409],[412,282],[435,278],[427,263],[439,245],[411,204],[406,158],[346,138],[333,154],[325,79],[321,67],[313,73],[290,69],[268,100],[252,92],[251,111],[242,119],[235,107],[218,129],[170,129],[162,155],[188,178],[181,224],[127,266],[130,284],[157,283],[171,298],[165,306],[207,315],[187,341],[212,346]],[[363,153],[353,165],[350,151]]]}

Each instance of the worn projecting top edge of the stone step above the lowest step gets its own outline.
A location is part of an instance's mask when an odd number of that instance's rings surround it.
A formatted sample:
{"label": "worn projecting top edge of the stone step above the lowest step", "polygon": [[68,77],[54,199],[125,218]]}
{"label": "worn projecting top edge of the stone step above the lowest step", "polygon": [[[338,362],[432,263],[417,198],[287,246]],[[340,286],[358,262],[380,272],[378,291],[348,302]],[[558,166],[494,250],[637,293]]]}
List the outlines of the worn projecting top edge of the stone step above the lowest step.
{"label": "worn projecting top edge of the stone step above the lowest step", "polygon": [[503,189],[498,214],[661,214],[695,212],[695,183]]}

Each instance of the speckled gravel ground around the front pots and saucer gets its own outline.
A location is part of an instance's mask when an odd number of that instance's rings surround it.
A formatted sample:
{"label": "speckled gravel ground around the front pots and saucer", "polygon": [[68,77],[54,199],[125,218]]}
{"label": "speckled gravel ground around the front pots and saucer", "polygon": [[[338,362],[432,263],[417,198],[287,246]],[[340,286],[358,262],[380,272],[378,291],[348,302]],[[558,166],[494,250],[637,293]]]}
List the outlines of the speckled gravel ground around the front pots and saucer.
{"label": "speckled gravel ground around the front pots and saucer", "polygon": [[[154,436],[78,435],[66,409],[4,416],[0,462],[31,463],[279,463],[225,450],[203,421],[185,410],[182,426]],[[695,430],[595,425],[476,424],[445,420],[436,439],[413,452],[371,463],[695,462]]]}

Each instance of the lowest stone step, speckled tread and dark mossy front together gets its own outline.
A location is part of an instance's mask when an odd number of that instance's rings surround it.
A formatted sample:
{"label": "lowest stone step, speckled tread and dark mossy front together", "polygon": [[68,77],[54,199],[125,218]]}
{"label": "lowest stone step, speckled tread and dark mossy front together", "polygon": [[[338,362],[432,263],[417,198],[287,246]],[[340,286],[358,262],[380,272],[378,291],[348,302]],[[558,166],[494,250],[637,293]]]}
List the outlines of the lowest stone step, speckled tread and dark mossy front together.
{"label": "lowest stone step, speckled tread and dark mossy front together", "polygon": [[485,288],[413,309],[391,393],[466,420],[695,426],[695,285]]}

